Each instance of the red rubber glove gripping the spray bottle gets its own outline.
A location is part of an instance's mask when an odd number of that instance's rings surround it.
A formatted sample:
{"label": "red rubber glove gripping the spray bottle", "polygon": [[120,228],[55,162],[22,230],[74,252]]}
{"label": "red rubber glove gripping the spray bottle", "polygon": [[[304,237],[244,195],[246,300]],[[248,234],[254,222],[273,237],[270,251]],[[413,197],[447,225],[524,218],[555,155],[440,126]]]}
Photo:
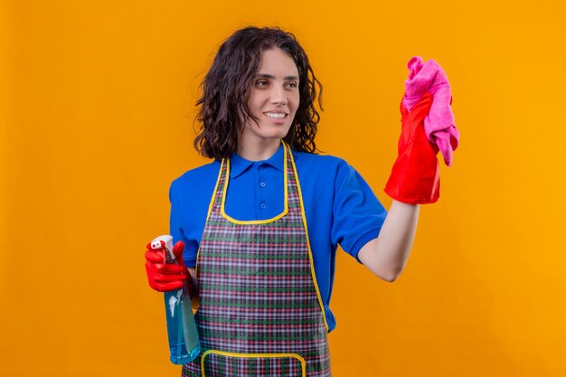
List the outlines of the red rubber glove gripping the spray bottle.
{"label": "red rubber glove gripping the spray bottle", "polygon": [[[175,243],[173,253],[177,263],[165,264],[165,242],[161,241],[162,249],[152,250],[150,243],[146,246],[146,272],[149,287],[158,292],[167,292],[183,287],[185,281],[192,283],[189,272],[184,267],[183,241]],[[187,279],[188,278],[188,279]]]}

